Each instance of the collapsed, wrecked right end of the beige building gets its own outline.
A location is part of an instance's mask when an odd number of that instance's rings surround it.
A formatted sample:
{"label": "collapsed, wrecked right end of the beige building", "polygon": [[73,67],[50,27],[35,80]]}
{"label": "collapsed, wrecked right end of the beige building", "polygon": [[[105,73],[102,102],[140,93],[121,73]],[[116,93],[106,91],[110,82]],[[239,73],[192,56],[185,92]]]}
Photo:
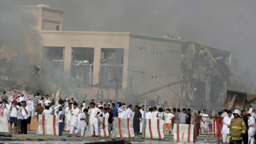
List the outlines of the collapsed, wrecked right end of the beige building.
{"label": "collapsed, wrecked right end of the beige building", "polygon": [[[229,85],[231,53],[206,47],[198,43],[184,42],[182,46],[181,83],[183,106],[211,109],[222,104]],[[198,101],[199,100],[199,101]],[[216,104],[215,104],[216,103]]]}

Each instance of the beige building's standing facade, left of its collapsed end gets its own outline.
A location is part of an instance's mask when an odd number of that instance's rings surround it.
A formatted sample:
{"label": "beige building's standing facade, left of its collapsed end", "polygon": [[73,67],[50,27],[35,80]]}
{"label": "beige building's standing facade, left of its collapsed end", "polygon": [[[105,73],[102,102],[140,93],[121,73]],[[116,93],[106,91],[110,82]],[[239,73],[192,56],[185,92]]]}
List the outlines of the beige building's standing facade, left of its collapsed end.
{"label": "beige building's standing facade, left of its collapsed end", "polygon": [[35,48],[41,54],[41,74],[70,79],[79,89],[76,99],[85,94],[90,99],[137,104],[148,98],[152,105],[179,107],[183,100],[190,100],[187,97],[193,97],[193,92],[190,96],[182,91],[188,86],[182,88],[180,83],[141,94],[184,79],[184,53],[195,54],[196,49],[202,49],[197,44],[187,47],[191,42],[182,39],[129,32],[63,31],[62,9],[37,5],[20,6],[20,10],[36,18],[32,27],[41,37],[41,45]]}

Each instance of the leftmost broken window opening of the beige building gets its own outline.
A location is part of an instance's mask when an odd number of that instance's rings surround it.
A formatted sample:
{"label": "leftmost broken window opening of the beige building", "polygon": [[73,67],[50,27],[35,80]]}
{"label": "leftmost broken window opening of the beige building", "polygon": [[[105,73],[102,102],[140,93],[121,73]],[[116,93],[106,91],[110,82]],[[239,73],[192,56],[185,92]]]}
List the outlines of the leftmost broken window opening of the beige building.
{"label": "leftmost broken window opening of the beige building", "polygon": [[65,47],[43,47],[42,74],[63,76]]}

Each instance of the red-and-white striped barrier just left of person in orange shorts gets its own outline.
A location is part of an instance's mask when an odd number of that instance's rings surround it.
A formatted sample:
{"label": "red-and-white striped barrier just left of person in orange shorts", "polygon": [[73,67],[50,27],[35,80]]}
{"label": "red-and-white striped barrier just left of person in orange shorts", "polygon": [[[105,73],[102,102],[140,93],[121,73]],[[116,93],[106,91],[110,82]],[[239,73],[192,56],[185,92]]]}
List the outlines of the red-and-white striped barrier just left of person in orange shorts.
{"label": "red-and-white striped barrier just left of person in orange shorts", "polygon": [[147,119],[145,139],[163,139],[163,120]]}

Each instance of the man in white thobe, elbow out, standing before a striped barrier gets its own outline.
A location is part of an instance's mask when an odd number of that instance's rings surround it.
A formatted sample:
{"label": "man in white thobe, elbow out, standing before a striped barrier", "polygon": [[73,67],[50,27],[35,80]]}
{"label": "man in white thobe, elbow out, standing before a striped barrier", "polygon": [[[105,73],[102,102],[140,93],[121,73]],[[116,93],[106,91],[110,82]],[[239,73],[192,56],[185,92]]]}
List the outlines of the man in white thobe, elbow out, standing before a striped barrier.
{"label": "man in white thobe, elbow out, standing before a striped barrier", "polygon": [[[99,114],[98,114],[99,113]],[[95,108],[95,103],[90,103],[90,109],[88,111],[89,116],[89,126],[91,128],[91,136],[98,137],[98,117],[102,114],[100,109]],[[93,134],[95,132],[95,135]]]}

